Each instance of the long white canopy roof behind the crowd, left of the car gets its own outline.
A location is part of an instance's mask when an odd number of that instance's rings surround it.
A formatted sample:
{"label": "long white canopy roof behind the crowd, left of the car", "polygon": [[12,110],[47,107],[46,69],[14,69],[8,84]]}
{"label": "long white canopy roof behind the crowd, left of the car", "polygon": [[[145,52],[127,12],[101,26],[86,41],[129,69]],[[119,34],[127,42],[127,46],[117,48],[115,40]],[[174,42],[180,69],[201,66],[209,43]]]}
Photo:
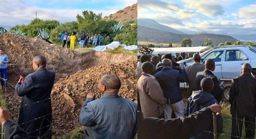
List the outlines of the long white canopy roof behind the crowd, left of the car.
{"label": "long white canopy roof behind the crowd, left of the car", "polygon": [[199,46],[199,47],[172,47],[172,48],[153,48],[153,54],[159,53],[189,53],[189,52],[204,52],[211,49],[209,46]]}

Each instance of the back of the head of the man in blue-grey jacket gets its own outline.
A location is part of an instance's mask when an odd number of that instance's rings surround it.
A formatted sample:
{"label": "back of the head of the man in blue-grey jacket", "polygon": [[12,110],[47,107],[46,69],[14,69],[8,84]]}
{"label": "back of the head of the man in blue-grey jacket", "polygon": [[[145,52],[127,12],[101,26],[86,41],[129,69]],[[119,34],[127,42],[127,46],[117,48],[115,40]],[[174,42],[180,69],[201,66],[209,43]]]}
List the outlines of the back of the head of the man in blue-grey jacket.
{"label": "back of the head of the man in blue-grey jacket", "polygon": [[106,89],[119,90],[121,88],[121,81],[116,75],[106,74],[102,76],[102,85],[105,85]]}

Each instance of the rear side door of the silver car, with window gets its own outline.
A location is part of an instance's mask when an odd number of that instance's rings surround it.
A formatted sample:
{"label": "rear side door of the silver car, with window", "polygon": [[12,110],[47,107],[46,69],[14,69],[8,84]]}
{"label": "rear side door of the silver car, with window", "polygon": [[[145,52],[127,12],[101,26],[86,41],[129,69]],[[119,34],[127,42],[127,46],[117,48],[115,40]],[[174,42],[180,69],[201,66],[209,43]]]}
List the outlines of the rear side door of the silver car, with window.
{"label": "rear side door of the silver car, with window", "polygon": [[244,63],[250,63],[250,59],[240,49],[226,50],[222,65],[223,78],[232,79],[239,76]]}

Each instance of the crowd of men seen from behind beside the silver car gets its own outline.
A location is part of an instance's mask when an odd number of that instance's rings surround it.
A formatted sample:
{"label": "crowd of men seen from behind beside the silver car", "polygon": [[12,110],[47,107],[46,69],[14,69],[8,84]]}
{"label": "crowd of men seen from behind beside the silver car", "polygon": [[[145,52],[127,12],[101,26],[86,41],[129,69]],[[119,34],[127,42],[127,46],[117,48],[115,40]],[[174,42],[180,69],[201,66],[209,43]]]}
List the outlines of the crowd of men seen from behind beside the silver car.
{"label": "crowd of men seen from behind beside the silver car", "polygon": [[[190,54],[191,55],[191,54]],[[189,56],[190,57],[190,56]],[[178,60],[182,60],[181,53]],[[202,64],[199,54],[194,63],[180,69],[171,54],[150,58],[142,55],[138,62],[138,137],[213,139],[213,112],[217,112],[217,134],[223,132],[219,105],[223,85],[214,75],[214,59]],[[256,78],[245,63],[241,74],[232,80],[230,89],[231,138],[242,136],[245,120],[246,138],[255,137]],[[180,82],[189,83],[189,98],[185,100]],[[184,106],[183,102],[187,102]],[[176,119],[171,119],[176,118]]]}

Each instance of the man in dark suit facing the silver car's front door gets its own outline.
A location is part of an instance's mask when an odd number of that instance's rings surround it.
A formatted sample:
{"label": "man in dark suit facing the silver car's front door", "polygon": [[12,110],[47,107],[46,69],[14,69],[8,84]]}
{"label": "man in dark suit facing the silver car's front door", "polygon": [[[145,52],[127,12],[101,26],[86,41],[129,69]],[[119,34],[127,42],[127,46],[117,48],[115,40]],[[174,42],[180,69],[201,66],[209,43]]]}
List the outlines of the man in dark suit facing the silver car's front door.
{"label": "man in dark suit facing the silver car's front door", "polygon": [[222,95],[222,87],[220,87],[220,82],[217,79],[217,77],[213,74],[213,71],[215,70],[215,62],[213,59],[207,59],[205,61],[205,70],[197,72],[196,74],[196,86],[197,86],[197,91],[201,90],[201,80],[204,79],[205,77],[211,78],[214,83],[214,89],[211,91],[211,94],[215,97],[215,99],[220,102],[221,100],[221,95]]}

